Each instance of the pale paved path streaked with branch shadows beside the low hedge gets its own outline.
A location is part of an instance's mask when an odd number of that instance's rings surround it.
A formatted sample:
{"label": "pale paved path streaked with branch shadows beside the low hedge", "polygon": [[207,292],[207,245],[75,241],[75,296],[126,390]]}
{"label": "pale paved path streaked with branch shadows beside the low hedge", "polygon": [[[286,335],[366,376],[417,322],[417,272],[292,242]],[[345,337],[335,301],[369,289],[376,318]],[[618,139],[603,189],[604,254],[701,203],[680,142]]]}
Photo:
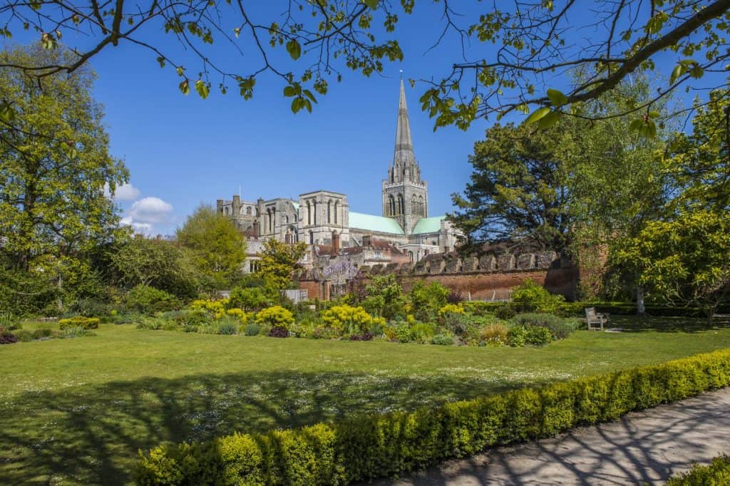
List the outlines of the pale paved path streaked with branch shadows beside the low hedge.
{"label": "pale paved path streaked with branch shadows beside the low hedge", "polygon": [[721,452],[730,453],[729,388],[374,484],[660,485]]}

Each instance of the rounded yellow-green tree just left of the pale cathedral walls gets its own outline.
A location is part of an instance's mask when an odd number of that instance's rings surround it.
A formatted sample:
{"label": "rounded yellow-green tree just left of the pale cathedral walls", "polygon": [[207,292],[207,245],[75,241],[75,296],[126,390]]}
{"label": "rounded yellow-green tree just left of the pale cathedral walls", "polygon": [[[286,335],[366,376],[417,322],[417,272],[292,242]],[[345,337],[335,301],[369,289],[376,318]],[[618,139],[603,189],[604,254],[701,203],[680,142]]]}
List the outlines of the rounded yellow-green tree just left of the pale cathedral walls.
{"label": "rounded yellow-green tree just left of the pale cathedral walls", "polygon": [[213,288],[226,288],[242,274],[246,241],[231,220],[212,207],[198,207],[176,234],[177,242],[191,250],[193,265]]}

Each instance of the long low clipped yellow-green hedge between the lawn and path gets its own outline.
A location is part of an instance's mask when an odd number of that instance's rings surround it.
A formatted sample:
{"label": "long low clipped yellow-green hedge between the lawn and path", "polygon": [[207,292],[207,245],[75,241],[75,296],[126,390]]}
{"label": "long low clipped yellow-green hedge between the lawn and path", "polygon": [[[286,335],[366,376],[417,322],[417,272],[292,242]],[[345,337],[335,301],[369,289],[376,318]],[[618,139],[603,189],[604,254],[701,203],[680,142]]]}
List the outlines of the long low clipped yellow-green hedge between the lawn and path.
{"label": "long low clipped yellow-green hedge between the lawn and path", "polygon": [[141,485],[343,484],[553,436],[728,385],[730,350],[722,350],[414,412],[163,444],[140,452],[136,479]]}

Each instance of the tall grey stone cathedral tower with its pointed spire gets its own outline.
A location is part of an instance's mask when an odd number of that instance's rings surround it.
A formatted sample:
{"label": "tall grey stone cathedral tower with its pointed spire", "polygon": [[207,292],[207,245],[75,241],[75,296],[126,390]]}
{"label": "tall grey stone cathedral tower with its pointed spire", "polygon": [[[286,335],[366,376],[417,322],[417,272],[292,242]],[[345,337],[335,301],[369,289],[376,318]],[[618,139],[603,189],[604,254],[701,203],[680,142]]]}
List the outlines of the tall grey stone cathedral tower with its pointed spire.
{"label": "tall grey stone cathedral tower with its pointed spire", "polygon": [[420,166],[413,153],[406,92],[401,78],[396,147],[393,162],[388,167],[388,179],[383,180],[383,216],[392,217],[405,234],[411,234],[418,220],[428,216],[428,209],[429,186],[420,178]]}

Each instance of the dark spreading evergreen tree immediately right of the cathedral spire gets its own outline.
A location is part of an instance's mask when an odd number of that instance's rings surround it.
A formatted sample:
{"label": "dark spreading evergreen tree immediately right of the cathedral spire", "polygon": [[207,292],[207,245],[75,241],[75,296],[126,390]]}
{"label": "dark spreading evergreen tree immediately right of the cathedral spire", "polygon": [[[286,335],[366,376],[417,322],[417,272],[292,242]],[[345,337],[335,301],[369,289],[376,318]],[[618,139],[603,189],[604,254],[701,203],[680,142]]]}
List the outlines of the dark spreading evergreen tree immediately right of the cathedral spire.
{"label": "dark spreading evergreen tree immediately right of the cathedral spire", "polygon": [[464,196],[453,195],[460,211],[452,220],[469,242],[529,239],[564,250],[569,243],[569,171],[572,149],[566,124],[544,131],[495,125],[476,142],[469,161],[474,172]]}

